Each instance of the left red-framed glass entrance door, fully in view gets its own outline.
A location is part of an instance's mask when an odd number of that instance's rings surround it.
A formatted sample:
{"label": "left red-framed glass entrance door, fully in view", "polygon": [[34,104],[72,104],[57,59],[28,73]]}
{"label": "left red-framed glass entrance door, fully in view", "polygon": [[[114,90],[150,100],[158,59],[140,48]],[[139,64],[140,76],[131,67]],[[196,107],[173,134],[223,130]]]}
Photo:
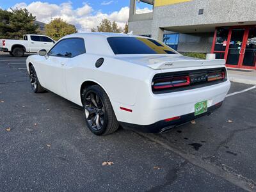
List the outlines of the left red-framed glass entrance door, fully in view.
{"label": "left red-framed glass entrance door, fully in view", "polygon": [[246,28],[231,28],[227,44],[228,49],[226,49],[226,63],[231,65],[230,67],[239,67],[241,60],[243,60],[245,32]]}

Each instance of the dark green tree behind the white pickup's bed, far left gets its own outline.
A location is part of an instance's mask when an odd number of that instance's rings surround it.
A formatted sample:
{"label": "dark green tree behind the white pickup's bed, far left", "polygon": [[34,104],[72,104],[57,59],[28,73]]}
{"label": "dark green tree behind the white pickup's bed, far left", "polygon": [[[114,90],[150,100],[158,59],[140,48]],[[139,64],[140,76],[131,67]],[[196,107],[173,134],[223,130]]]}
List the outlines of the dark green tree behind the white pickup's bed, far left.
{"label": "dark green tree behind the white pickup's bed, far left", "polygon": [[0,38],[21,39],[27,33],[37,34],[39,26],[35,20],[26,9],[0,10]]}

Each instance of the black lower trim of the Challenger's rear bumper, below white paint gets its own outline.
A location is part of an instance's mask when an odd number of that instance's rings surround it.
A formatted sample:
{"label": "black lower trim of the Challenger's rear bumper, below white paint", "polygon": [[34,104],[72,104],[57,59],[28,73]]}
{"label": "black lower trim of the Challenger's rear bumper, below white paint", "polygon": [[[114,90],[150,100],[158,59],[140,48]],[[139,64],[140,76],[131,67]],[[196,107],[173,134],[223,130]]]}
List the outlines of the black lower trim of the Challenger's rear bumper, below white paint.
{"label": "black lower trim of the Challenger's rear bumper, below white paint", "polygon": [[136,125],[136,124],[129,124],[125,122],[119,122],[119,124],[124,127],[125,129],[130,129],[132,131],[140,131],[140,132],[150,132],[150,133],[161,133],[168,131],[172,129],[173,127],[177,127],[178,125],[186,124],[188,122],[191,122],[191,120],[195,120],[196,118],[200,118],[201,116],[205,115],[211,115],[211,113],[220,108],[222,105],[222,102],[219,102],[217,104],[214,104],[214,106],[211,106],[207,109],[207,112],[202,113],[200,115],[196,115],[195,113],[189,113],[186,115],[179,116],[180,118],[177,120],[171,120],[171,121],[165,121],[161,120],[159,122],[156,122],[154,124],[150,125]]}

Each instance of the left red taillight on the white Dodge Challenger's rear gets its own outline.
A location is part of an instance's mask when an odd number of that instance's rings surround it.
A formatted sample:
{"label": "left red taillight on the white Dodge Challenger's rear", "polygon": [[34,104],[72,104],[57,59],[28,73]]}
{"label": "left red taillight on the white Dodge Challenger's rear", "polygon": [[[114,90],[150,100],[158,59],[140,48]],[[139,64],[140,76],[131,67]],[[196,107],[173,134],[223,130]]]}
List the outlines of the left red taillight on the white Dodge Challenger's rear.
{"label": "left red taillight on the white Dodge Challenger's rear", "polygon": [[152,83],[152,86],[155,90],[173,88],[179,86],[187,86],[190,84],[189,76],[180,76],[180,77],[170,77],[164,79],[156,79]]}

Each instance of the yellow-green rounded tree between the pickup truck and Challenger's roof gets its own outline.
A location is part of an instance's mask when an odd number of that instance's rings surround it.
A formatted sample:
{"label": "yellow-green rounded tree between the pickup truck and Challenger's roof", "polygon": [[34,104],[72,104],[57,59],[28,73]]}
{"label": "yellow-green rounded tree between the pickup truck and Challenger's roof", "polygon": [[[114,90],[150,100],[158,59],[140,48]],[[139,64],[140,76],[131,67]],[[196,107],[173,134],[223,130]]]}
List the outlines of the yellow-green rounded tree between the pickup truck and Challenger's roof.
{"label": "yellow-green rounded tree between the pickup truck and Challenger's roof", "polygon": [[54,40],[59,40],[65,35],[77,33],[74,25],[68,24],[60,18],[53,19],[49,24],[45,25],[45,33]]}

